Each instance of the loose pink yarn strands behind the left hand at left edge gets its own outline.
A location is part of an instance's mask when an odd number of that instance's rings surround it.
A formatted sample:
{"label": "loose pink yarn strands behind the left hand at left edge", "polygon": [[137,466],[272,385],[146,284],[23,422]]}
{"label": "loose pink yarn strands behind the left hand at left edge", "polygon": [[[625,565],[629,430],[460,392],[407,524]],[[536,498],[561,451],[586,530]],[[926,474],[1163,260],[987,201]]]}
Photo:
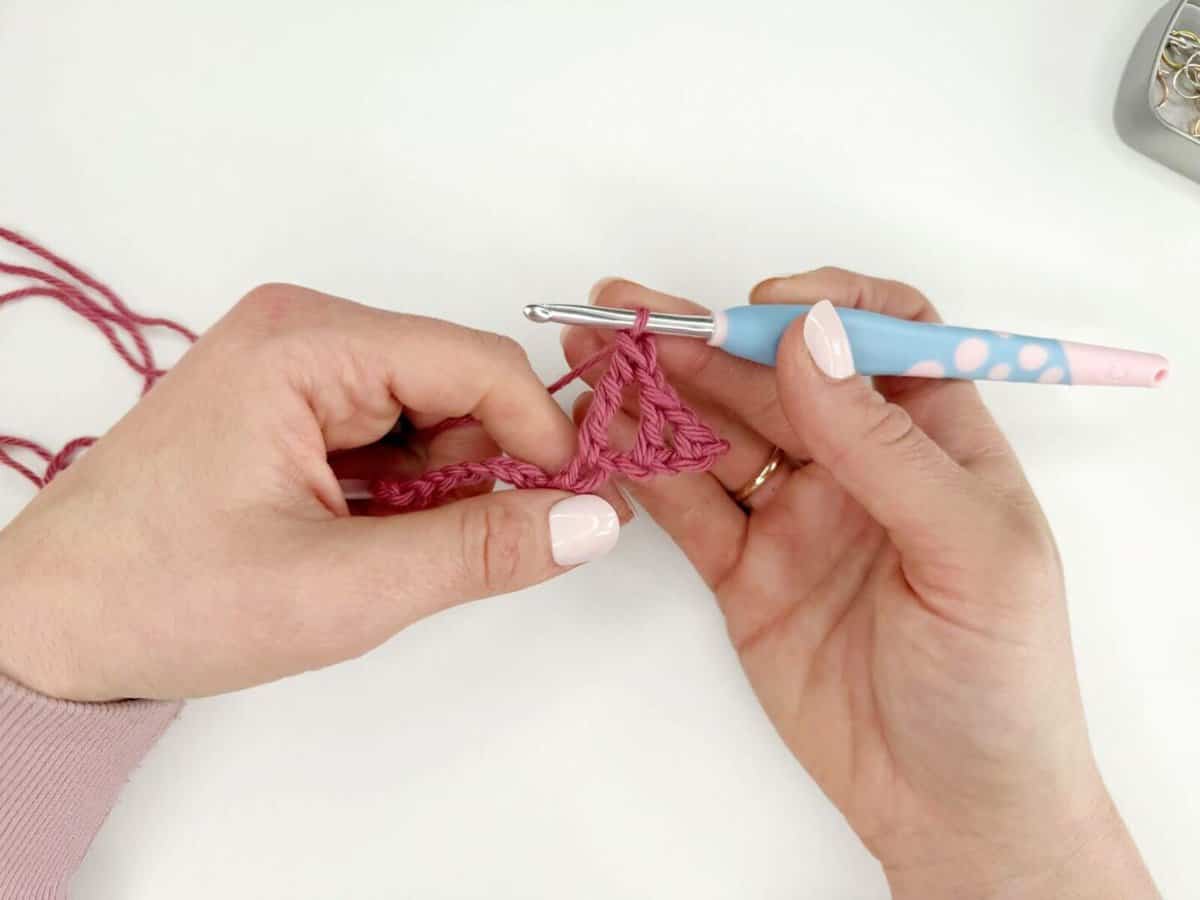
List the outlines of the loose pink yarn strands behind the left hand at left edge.
{"label": "loose pink yarn strands behind the left hand at left edge", "polygon": [[[29,282],[23,287],[0,293],[0,306],[30,298],[56,300],[62,304],[71,312],[91,323],[104,336],[109,346],[116,350],[118,356],[142,377],[143,394],[150,390],[154,383],[167,372],[167,370],[160,368],[155,361],[154,350],[145,336],[146,329],[164,328],[187,338],[187,341],[196,340],[196,334],[178,322],[134,312],[107,284],[23,234],[0,227],[0,242],[10,244],[34,254],[49,264],[52,270],[59,272],[55,275],[53,271],[43,271],[29,265],[0,262],[0,275],[25,278]],[[132,342],[132,348],[127,342]],[[56,474],[71,464],[80,450],[94,443],[96,443],[96,438],[74,438],[68,440],[61,450],[53,452],[35,440],[0,434],[0,466],[7,466],[29,479],[35,487],[44,487]],[[5,448],[31,452],[43,463],[42,470],[38,473],[23,464],[6,452]]]}

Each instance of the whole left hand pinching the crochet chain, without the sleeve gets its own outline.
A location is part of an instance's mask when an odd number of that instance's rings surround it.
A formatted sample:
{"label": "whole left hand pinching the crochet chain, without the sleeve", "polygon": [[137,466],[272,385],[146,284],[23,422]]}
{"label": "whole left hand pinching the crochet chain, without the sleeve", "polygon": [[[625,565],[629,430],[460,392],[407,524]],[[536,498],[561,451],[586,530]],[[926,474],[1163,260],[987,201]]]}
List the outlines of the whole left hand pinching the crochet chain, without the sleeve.
{"label": "whole left hand pinching the crochet chain, without the sleeve", "polygon": [[[481,427],[377,443],[401,414]],[[505,491],[380,518],[352,515],[371,510],[338,478],[500,449],[557,470],[575,434],[510,338],[252,290],[0,532],[0,672],[67,700],[217,694],[560,575],[616,541],[614,494]]]}

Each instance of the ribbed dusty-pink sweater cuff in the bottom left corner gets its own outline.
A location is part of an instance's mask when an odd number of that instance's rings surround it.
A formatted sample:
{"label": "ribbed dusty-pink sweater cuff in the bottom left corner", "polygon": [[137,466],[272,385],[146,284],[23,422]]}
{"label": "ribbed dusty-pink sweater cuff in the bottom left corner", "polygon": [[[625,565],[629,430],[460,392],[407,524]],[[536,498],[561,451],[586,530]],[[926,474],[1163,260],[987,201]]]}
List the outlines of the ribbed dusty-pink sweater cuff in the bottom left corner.
{"label": "ribbed dusty-pink sweater cuff in the bottom left corner", "polygon": [[72,703],[0,676],[0,898],[65,898],[130,773],[180,703]]}

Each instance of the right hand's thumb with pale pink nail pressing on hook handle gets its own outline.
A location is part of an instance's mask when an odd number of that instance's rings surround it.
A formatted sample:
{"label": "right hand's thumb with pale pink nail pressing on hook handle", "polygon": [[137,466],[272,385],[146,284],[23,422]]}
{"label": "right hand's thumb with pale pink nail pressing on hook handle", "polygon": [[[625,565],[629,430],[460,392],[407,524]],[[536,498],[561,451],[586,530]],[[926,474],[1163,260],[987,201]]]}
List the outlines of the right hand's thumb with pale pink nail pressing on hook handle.
{"label": "right hand's thumb with pale pink nail pressing on hook handle", "polygon": [[828,300],[779,346],[784,413],[815,462],[882,524],[901,552],[944,550],[978,527],[976,480],[866,378]]}

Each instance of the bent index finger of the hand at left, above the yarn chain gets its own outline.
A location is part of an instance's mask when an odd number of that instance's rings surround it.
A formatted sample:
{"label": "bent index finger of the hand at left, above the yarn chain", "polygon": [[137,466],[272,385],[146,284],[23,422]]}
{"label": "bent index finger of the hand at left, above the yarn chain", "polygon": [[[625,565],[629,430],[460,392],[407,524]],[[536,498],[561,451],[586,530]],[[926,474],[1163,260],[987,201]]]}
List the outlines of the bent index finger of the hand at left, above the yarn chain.
{"label": "bent index finger of the hand at left, above the yarn chain", "polygon": [[[575,427],[509,337],[378,310],[292,284],[251,292],[198,346],[238,359],[272,348],[272,365],[306,401],[324,450],[379,440],[402,412],[427,424],[470,415],[508,454],[548,472],[575,451]],[[188,360],[180,364],[187,365]],[[256,364],[257,365],[257,364]]]}

